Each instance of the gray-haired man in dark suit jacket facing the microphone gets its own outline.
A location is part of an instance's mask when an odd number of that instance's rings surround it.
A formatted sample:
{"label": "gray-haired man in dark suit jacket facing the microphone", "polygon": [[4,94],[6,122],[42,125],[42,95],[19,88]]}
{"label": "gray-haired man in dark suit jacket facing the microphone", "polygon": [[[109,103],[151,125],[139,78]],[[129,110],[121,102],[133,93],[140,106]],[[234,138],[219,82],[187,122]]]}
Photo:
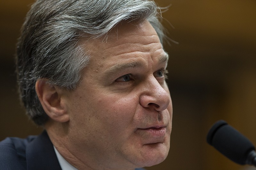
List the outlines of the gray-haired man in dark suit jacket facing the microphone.
{"label": "gray-haired man in dark suit jacket facing the microphone", "polygon": [[0,169],[135,169],[166,159],[172,102],[157,9],[148,0],[32,5],[18,82],[45,131],[2,141]]}

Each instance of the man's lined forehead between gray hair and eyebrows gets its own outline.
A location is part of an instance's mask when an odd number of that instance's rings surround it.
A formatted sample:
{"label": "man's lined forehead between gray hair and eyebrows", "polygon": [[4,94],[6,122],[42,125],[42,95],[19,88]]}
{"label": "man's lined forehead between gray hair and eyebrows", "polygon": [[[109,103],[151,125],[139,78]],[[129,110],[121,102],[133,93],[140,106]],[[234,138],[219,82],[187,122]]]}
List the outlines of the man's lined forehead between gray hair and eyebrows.
{"label": "man's lined forehead between gray hair and eyebrows", "polygon": [[158,35],[148,21],[139,25],[119,23],[105,37],[84,43],[90,54],[89,67],[111,67],[116,62],[150,58],[157,61],[168,55],[164,52]]}

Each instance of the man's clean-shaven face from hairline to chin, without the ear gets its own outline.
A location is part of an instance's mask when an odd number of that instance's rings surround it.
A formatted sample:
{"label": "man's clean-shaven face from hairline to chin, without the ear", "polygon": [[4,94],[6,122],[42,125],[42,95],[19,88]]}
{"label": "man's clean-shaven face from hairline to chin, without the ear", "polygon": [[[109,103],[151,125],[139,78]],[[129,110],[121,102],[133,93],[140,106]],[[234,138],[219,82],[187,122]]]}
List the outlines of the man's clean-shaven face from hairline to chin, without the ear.
{"label": "man's clean-shaven face from hairline to chin, without the ear", "polygon": [[122,23],[83,43],[91,58],[81,84],[68,92],[70,152],[110,169],[162,162],[172,102],[164,78],[168,57],[156,31],[148,22]]}

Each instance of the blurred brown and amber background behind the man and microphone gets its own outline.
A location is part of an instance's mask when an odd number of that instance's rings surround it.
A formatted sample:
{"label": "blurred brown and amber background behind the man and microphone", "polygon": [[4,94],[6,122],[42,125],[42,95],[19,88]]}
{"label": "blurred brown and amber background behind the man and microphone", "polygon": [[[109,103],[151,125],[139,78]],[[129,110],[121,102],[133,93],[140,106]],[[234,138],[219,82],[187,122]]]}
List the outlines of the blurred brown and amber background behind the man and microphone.
{"label": "blurred brown and amber background behind the man and microphone", "polygon": [[[41,133],[20,105],[15,43],[34,0],[0,1],[0,140]],[[156,0],[170,42],[168,84],[173,102],[171,149],[148,170],[250,170],[206,143],[223,119],[256,145],[256,0]]]}

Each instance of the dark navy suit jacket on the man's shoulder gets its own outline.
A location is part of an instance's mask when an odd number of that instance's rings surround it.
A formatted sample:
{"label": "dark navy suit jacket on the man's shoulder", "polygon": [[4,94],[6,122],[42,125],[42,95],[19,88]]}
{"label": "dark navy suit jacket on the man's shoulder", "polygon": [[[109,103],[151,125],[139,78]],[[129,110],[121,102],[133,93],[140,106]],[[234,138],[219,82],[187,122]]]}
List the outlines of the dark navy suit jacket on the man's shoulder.
{"label": "dark navy suit jacket on the man's shoulder", "polygon": [[0,170],[23,169],[61,170],[46,131],[38,137],[29,136],[26,139],[8,137],[0,142]]}

